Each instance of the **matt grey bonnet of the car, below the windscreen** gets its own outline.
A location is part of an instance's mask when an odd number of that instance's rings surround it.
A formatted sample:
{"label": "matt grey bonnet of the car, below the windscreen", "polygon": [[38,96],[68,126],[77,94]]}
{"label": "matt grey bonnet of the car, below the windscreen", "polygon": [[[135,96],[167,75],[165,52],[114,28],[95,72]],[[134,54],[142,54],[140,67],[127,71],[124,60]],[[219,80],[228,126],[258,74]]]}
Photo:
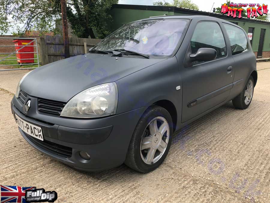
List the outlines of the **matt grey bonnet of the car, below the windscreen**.
{"label": "matt grey bonnet of the car, below the windscreen", "polygon": [[114,82],[165,59],[111,57],[83,54],[34,69],[20,88],[27,94],[67,102],[79,92],[107,82]]}

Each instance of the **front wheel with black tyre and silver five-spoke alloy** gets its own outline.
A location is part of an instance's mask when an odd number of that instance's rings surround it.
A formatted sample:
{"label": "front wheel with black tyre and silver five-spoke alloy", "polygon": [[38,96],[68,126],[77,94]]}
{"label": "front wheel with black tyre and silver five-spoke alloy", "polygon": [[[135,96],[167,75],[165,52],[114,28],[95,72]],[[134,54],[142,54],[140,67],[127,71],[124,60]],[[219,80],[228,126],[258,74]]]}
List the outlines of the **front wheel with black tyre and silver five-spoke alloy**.
{"label": "front wheel with black tyre and silver five-spoke alloy", "polygon": [[160,106],[149,107],[131,137],[125,164],[143,173],[155,170],[168,154],[172,135],[170,113]]}

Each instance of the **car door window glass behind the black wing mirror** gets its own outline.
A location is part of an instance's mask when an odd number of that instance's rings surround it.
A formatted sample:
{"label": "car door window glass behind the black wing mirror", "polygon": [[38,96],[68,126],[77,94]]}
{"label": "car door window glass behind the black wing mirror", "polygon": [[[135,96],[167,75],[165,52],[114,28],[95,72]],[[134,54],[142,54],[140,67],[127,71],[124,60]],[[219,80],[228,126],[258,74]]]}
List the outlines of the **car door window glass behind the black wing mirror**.
{"label": "car door window glass behind the black wing mirror", "polygon": [[[213,48],[217,51],[217,58],[227,55],[223,33],[219,24],[215,22],[200,22],[197,24],[191,38],[191,53],[195,54],[199,48]],[[193,64],[202,61],[195,61]]]}

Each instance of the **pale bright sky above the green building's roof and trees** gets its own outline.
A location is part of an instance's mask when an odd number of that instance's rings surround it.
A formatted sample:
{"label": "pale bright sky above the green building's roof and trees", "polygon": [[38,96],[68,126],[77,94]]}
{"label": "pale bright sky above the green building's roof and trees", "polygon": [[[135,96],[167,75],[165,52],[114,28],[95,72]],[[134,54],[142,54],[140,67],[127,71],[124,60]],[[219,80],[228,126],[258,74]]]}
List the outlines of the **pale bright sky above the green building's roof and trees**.
{"label": "pale bright sky above the green building's roof and trees", "polygon": [[[134,4],[134,5],[153,5],[153,2],[157,1],[162,1],[164,0],[119,0],[119,4]],[[167,3],[173,2],[173,0],[165,0]],[[220,7],[222,4],[226,3],[226,0],[213,0],[213,1],[202,1],[202,0],[192,0],[193,3],[199,6],[200,11],[212,11],[212,5],[214,3],[213,8]],[[265,4],[268,5],[268,13],[270,13],[270,0],[259,0],[259,1],[231,1],[234,3],[244,3],[244,4],[249,4],[249,3],[258,3],[260,5]],[[255,7],[256,8],[256,7]]]}

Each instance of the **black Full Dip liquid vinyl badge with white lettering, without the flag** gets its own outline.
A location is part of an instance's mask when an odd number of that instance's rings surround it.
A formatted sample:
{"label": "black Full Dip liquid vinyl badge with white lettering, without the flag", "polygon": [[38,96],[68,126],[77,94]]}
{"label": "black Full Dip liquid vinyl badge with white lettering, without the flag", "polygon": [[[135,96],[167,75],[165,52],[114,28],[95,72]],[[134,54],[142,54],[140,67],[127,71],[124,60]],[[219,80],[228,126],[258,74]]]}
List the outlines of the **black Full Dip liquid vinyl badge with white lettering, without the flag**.
{"label": "black Full Dip liquid vinyl badge with white lettering, without the flag", "polygon": [[43,188],[36,190],[26,190],[25,193],[26,202],[54,202],[57,199],[57,193],[55,191],[45,191]]}

